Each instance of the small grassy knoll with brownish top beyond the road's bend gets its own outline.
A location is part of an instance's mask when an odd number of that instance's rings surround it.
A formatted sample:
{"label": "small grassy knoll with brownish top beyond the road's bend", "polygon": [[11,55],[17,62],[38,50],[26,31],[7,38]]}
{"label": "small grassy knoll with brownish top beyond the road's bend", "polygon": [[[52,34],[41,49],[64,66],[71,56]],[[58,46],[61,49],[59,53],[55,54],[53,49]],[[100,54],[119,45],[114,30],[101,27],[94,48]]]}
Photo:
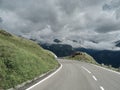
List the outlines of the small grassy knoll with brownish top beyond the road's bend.
{"label": "small grassy knoll with brownish top beyond the road's bend", "polygon": [[91,57],[90,55],[84,52],[76,52],[73,55],[65,57],[65,58],[97,64],[97,62],[94,60],[93,57]]}

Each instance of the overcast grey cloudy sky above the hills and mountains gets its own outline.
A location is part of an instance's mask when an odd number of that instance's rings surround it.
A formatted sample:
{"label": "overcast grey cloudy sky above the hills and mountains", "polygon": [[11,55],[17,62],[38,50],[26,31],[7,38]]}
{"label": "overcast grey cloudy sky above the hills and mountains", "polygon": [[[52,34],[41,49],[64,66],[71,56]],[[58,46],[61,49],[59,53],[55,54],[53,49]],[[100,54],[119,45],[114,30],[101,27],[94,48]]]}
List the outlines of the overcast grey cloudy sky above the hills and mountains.
{"label": "overcast grey cloudy sky above the hills and mountains", "polygon": [[0,28],[42,42],[118,50],[120,0],[0,0]]}

